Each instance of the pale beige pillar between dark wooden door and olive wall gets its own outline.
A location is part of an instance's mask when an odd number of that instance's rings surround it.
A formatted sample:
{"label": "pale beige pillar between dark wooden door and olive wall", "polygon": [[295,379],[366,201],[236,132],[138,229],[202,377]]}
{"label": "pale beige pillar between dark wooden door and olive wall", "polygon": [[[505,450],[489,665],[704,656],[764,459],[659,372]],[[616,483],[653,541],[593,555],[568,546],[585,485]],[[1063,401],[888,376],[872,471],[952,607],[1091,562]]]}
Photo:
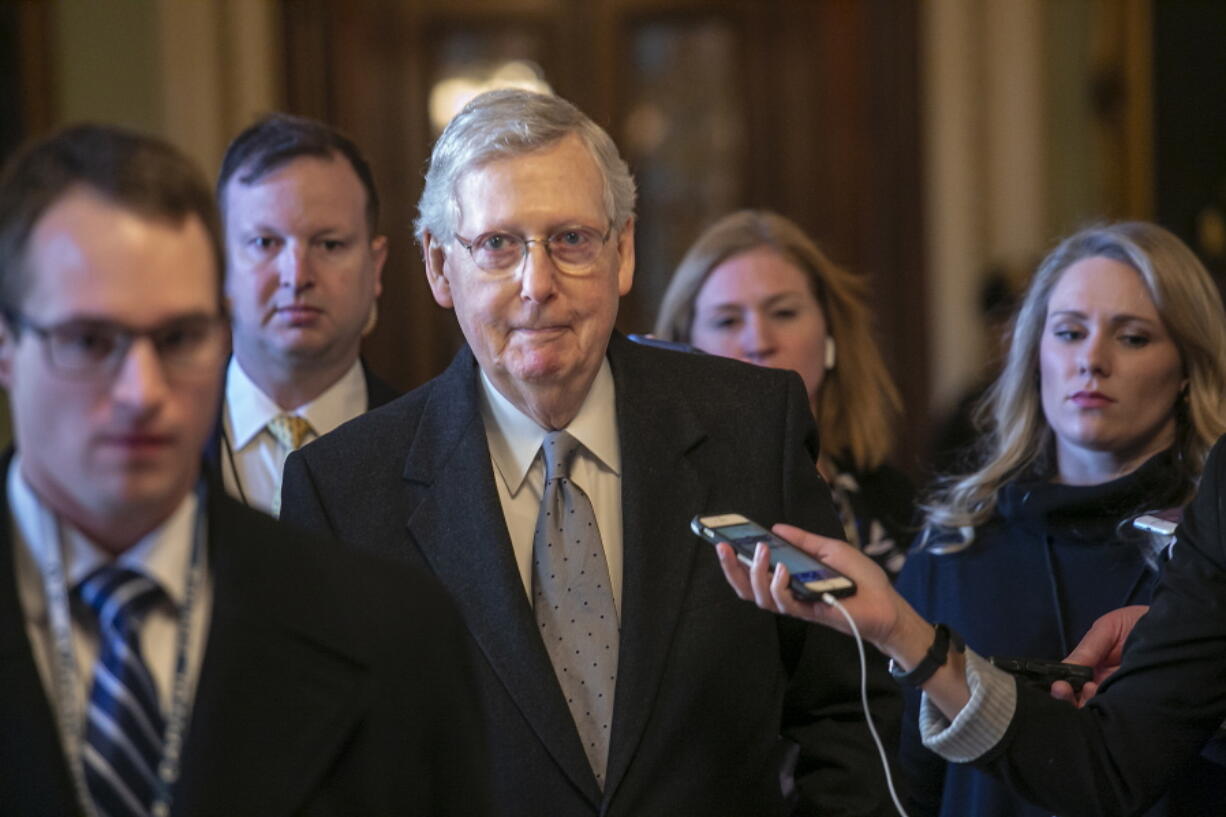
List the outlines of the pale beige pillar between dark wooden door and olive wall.
{"label": "pale beige pillar between dark wooden door and olive wall", "polygon": [[1034,0],[923,9],[929,405],[939,415],[989,358],[983,270],[1025,265],[1045,243],[1042,15]]}

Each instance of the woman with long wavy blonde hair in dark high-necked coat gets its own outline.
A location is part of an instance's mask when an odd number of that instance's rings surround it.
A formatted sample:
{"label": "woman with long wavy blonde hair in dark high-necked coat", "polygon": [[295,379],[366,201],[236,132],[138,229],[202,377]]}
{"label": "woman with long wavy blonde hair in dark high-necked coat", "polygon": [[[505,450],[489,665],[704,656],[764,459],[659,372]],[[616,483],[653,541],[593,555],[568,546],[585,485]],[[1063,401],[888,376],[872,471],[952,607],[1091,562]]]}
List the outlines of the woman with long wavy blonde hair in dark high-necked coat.
{"label": "woman with long wavy blonde hair in dark high-necked coat", "polygon": [[[1132,521],[1192,497],[1226,432],[1224,384],[1226,315],[1177,238],[1133,222],[1065,239],[1030,285],[982,408],[981,466],[928,503],[899,591],[981,655],[1059,660],[1102,613],[1149,602],[1165,542]],[[908,692],[912,817],[1049,815],[924,748]],[[1224,778],[1189,770],[1195,783],[1150,813],[1201,813],[1188,800]]]}

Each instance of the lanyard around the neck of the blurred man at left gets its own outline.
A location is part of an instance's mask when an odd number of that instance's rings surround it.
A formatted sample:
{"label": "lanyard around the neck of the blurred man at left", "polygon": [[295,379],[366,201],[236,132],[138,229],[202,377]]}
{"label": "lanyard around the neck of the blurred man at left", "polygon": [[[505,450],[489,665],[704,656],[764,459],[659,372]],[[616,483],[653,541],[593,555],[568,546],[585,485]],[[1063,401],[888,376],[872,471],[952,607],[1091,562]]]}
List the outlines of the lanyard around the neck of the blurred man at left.
{"label": "lanyard around the neck of the blurred man at left", "polygon": [[[174,678],[170,686],[170,713],[166,721],[166,737],[162,741],[162,756],[157,768],[151,812],[154,817],[168,817],[170,813],[172,790],[179,778],[179,761],[183,751],[183,738],[188,726],[188,714],[191,708],[188,700],[188,646],[191,637],[192,613],[196,607],[196,593],[204,574],[205,539],[205,488],[204,482],[196,489],[196,525],[191,537],[191,558],[188,563],[188,583],[183,605],[179,607],[179,621],[174,637]],[[76,653],[72,648],[72,613],[69,606],[67,577],[64,572],[64,557],[60,552],[59,519],[50,512],[42,514],[42,530],[47,558],[40,568],[43,589],[47,595],[47,611],[51,626],[51,676],[59,715],[60,738],[67,753],[69,770],[76,788],[77,799],[86,817],[97,817],[93,799],[85,781],[85,768],[81,761],[81,745],[85,731],[81,726],[82,713],[77,707],[78,682]]]}

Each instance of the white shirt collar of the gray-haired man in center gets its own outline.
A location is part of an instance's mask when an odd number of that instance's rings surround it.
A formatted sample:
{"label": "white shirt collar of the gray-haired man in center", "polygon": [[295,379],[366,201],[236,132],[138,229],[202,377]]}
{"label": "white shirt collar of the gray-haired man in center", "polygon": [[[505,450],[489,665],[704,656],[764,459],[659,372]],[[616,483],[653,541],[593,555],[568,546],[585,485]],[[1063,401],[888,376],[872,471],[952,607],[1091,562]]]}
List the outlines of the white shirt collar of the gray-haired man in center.
{"label": "white shirt collar of the gray-haired man in center", "polygon": [[[520,411],[481,372],[482,417],[490,458],[511,496],[519,493],[544,442],[546,429]],[[620,476],[622,449],[617,435],[617,388],[608,359],[601,362],[579,413],[566,426],[600,465]]]}

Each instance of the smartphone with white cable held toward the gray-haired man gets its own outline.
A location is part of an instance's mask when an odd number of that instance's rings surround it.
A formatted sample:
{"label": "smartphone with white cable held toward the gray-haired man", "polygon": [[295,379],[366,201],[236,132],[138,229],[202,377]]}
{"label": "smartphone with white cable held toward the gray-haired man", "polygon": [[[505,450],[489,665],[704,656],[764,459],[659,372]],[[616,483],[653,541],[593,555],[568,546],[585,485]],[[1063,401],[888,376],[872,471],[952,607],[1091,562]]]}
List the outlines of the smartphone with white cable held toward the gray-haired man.
{"label": "smartphone with white cable held toward the gray-haired man", "polygon": [[770,548],[770,566],[782,563],[791,575],[792,595],[801,601],[821,601],[823,594],[842,597],[856,593],[856,583],[813,558],[802,550],[790,545],[755,521],[741,514],[718,514],[716,516],[694,516],[690,530],[701,539],[718,545],[727,542],[737,552],[737,557],[749,564],[754,559],[758,542],[765,542]]}

